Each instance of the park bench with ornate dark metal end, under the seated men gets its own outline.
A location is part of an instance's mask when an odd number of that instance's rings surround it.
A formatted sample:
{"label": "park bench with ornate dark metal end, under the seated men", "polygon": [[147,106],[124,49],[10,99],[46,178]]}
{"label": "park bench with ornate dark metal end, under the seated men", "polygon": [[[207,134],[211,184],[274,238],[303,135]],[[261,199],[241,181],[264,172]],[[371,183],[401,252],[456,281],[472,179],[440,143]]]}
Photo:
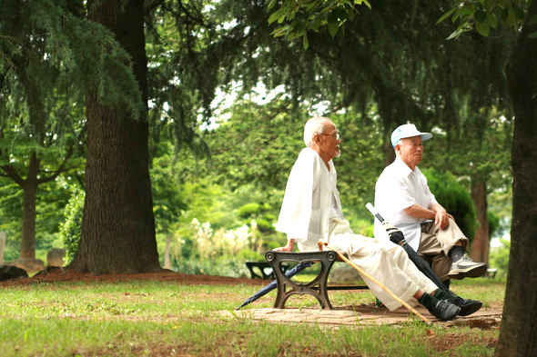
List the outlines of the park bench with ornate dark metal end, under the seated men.
{"label": "park bench with ornate dark metal end, under the seated men", "polygon": [[[285,303],[291,295],[294,294],[309,294],[314,296],[322,309],[332,310],[332,304],[329,300],[329,290],[367,290],[366,285],[329,285],[329,273],[332,266],[336,262],[341,262],[337,253],[333,251],[322,252],[304,252],[304,253],[289,253],[289,252],[274,252],[265,253],[265,259],[270,264],[272,271],[276,275],[278,282],[278,293],[274,307],[284,309]],[[320,263],[320,271],[318,275],[309,283],[299,283],[293,281],[285,275],[282,265],[285,263]]]}

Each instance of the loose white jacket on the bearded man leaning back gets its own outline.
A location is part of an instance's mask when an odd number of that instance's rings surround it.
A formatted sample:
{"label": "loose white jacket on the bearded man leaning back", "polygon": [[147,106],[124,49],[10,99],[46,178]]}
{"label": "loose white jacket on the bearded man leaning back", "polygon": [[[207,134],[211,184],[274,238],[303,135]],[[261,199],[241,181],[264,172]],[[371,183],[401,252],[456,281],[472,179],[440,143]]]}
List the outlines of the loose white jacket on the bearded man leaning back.
{"label": "loose white jacket on the bearded man leaning back", "polygon": [[295,239],[301,250],[318,249],[319,240],[328,242],[330,217],[343,219],[336,168],[331,160],[329,168],[317,152],[307,147],[289,174],[276,230]]}

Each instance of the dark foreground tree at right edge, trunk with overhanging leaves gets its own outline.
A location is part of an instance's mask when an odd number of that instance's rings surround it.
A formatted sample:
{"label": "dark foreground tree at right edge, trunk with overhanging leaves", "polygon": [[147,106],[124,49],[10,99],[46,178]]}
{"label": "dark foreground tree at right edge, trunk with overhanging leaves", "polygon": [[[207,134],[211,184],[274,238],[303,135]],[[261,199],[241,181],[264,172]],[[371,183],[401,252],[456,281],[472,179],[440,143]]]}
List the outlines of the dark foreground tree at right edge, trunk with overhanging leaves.
{"label": "dark foreground tree at right edge, trunk with overhanging leaves", "polygon": [[[444,17],[459,19],[459,27],[453,33],[460,35],[475,28],[481,35],[489,35],[495,21],[502,19],[518,32],[510,64],[507,68],[507,86],[515,114],[512,140],[513,210],[512,243],[507,289],[503,307],[502,328],[495,355],[531,356],[537,353],[532,343],[535,335],[535,313],[525,313],[527,302],[537,296],[535,266],[530,256],[536,253],[537,244],[532,240],[532,224],[535,213],[534,174],[537,173],[535,154],[531,150],[536,133],[537,119],[537,3],[535,1],[488,1],[469,2],[454,6]],[[522,21],[522,28],[520,22]],[[533,263],[535,264],[535,263]],[[528,284],[530,283],[530,284]],[[528,300],[530,299],[530,300]]]}

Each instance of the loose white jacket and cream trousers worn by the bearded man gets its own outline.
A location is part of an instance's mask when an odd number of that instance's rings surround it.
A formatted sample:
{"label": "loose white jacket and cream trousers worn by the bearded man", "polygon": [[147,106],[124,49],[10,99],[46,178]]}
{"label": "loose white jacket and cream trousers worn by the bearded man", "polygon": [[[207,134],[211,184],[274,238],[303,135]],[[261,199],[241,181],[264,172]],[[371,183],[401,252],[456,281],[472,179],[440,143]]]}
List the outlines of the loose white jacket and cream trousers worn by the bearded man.
{"label": "loose white jacket and cream trousers worn by the bearded man", "polygon": [[[410,305],[418,303],[413,298],[418,290],[436,290],[399,245],[352,232],[343,218],[336,184],[334,164],[330,161],[328,169],[319,154],[303,149],[289,174],[276,230],[295,239],[300,251],[317,251],[319,240],[329,242],[331,248],[347,253],[353,263]],[[390,311],[400,307],[400,302],[379,285],[364,276],[362,279]]]}

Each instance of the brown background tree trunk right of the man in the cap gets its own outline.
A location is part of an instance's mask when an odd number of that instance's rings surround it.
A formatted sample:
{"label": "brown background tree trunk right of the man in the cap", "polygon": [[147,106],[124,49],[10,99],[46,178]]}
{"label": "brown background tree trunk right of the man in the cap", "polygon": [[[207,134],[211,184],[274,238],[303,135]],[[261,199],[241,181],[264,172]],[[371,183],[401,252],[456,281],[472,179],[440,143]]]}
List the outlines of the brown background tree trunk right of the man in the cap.
{"label": "brown background tree trunk right of the man in the cap", "polygon": [[475,211],[480,227],[475,231],[471,243],[470,257],[474,262],[489,261],[489,217],[487,216],[487,183],[480,179],[471,182],[471,199],[475,203]]}

